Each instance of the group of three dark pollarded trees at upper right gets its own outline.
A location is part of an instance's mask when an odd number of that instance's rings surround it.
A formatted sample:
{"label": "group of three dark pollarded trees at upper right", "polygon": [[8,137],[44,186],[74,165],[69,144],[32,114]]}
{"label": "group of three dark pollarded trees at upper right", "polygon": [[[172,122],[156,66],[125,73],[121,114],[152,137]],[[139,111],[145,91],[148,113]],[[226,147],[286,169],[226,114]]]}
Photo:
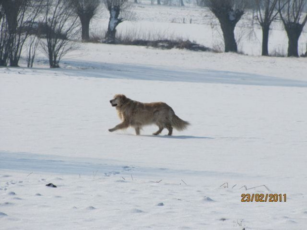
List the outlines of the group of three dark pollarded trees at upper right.
{"label": "group of three dark pollarded trees at upper right", "polygon": [[277,16],[288,35],[288,56],[299,56],[298,42],[307,22],[307,0],[203,0],[217,17],[223,32],[225,52],[237,52],[234,30],[247,8],[256,8],[256,20],[262,28],[262,55],[268,55],[271,23]]}

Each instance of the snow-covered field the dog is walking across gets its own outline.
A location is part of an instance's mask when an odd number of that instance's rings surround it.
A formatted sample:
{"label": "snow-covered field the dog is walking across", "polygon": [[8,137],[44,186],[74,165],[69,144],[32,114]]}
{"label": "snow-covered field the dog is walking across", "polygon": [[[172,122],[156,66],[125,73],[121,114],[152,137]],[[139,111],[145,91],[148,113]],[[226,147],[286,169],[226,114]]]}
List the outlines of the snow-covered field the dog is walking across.
{"label": "snow-covered field the dog is walking across", "polygon": [[[61,66],[0,68],[1,230],[306,229],[305,58],[85,44]],[[109,133],[115,93],[192,125]]]}

